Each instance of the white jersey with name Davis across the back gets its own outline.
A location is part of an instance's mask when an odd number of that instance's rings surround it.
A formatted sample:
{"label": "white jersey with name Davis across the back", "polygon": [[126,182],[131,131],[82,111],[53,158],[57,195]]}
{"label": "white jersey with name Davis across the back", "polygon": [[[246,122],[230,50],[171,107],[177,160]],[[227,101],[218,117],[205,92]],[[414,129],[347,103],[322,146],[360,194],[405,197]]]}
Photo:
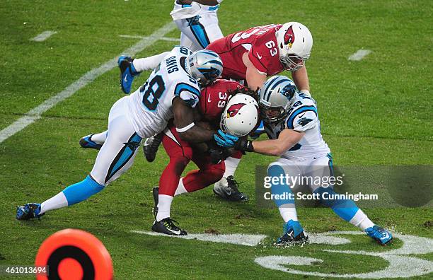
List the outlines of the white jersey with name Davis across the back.
{"label": "white jersey with name Davis across the back", "polygon": [[200,87],[185,71],[186,47],[176,46],[154,69],[146,83],[129,96],[127,117],[142,138],[162,132],[173,118],[172,101],[183,99],[190,107],[197,105]]}

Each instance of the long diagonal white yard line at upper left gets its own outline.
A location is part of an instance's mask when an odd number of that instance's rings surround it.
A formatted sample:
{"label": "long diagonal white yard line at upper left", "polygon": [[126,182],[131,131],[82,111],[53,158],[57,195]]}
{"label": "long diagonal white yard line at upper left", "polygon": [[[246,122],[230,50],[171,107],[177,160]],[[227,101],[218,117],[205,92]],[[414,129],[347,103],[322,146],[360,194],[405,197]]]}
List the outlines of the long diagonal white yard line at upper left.
{"label": "long diagonal white yard line at upper left", "polygon": [[[141,52],[146,47],[149,47],[150,45],[154,44],[154,42],[161,40],[161,38],[163,38],[164,35],[173,31],[175,28],[176,28],[175,23],[173,22],[167,23],[162,28],[156,30],[150,36],[140,40],[139,42],[137,42],[137,44],[133,45],[132,47],[125,49],[125,51],[123,51],[122,54],[133,56],[134,54],[137,54],[137,52]],[[74,95],[76,91],[79,91],[79,89],[83,88],[84,86],[87,86],[88,83],[95,81],[96,78],[98,78],[105,72],[110,71],[116,66],[117,66],[117,57],[114,57],[110,59],[108,62],[105,62],[104,64],[99,66],[98,68],[91,69],[91,71],[88,71],[86,74],[81,76],[81,78],[79,78],[77,81],[71,83],[63,91],[57,93],[57,95],[54,95],[51,98],[48,98],[47,100],[45,100],[44,103],[33,108],[32,110],[27,112],[23,117],[20,117],[11,125],[1,130],[0,143],[8,139],[13,134],[20,132],[29,124],[35,122],[37,119],[40,119],[41,115],[44,112],[47,112],[47,110],[50,110],[52,107],[57,105],[57,103],[62,102],[66,98],[69,98],[71,95]]]}

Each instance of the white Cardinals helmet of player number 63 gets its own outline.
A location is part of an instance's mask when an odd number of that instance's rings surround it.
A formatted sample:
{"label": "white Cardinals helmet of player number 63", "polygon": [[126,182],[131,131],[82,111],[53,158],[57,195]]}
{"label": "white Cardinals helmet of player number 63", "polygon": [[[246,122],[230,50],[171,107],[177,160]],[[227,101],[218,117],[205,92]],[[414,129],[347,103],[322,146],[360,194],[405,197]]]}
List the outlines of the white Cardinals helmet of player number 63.
{"label": "white Cardinals helmet of player number 63", "polygon": [[305,25],[296,22],[284,23],[275,33],[279,50],[279,61],[289,71],[304,66],[313,47],[313,36]]}

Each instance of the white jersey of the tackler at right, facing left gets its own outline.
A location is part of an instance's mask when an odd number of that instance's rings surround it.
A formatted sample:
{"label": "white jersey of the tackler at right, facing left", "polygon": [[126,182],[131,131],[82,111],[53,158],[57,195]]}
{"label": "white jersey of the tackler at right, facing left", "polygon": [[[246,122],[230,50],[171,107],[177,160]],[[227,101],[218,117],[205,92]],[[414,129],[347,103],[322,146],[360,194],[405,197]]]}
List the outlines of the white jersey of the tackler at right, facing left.
{"label": "white jersey of the tackler at right, facing left", "polygon": [[296,93],[293,105],[285,119],[277,124],[266,124],[265,132],[270,139],[277,139],[284,129],[305,132],[301,141],[285,151],[282,158],[291,160],[317,158],[330,153],[328,144],[323,141],[321,123],[318,119],[316,101],[305,93]]}

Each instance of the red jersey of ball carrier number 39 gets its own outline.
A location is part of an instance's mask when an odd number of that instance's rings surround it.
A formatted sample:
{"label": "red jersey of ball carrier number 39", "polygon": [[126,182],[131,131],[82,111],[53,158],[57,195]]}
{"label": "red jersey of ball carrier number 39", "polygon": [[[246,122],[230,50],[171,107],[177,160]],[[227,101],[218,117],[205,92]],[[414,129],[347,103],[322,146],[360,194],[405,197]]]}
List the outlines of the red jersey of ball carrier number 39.
{"label": "red jersey of ball carrier number 39", "polygon": [[236,81],[224,79],[217,80],[212,85],[203,88],[198,109],[202,113],[204,120],[212,123],[219,122],[229,99],[229,92],[236,90],[236,88],[243,88],[243,86]]}

